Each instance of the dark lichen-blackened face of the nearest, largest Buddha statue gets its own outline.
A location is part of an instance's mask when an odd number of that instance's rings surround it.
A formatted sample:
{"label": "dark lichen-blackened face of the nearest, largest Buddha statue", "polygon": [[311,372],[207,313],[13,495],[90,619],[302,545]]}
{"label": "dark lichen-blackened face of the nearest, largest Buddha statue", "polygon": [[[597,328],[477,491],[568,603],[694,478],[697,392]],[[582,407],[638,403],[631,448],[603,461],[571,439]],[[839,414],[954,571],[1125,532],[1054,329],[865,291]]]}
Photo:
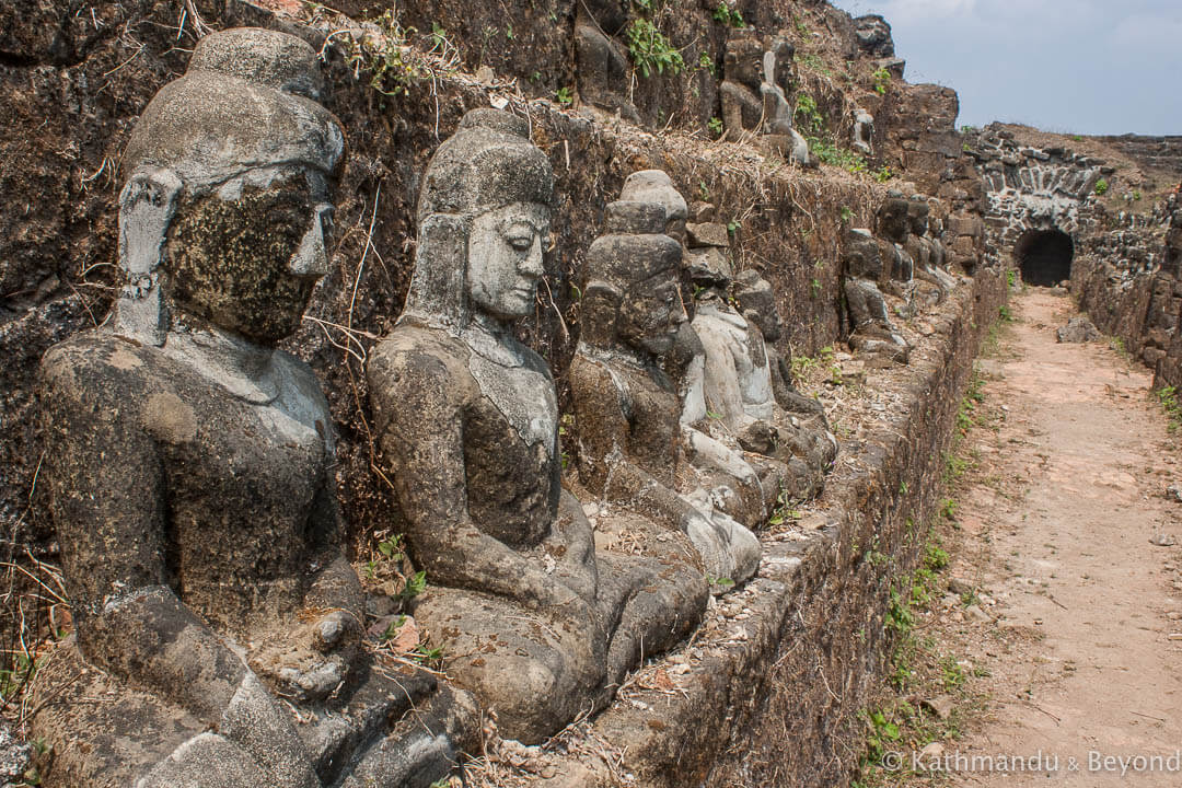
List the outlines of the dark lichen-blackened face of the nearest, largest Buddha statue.
{"label": "dark lichen-blackened face of the nearest, largest Buddha statue", "polygon": [[165,259],[173,301],[262,344],[294,333],[327,269],[327,190],[324,174],[281,167],[182,196]]}

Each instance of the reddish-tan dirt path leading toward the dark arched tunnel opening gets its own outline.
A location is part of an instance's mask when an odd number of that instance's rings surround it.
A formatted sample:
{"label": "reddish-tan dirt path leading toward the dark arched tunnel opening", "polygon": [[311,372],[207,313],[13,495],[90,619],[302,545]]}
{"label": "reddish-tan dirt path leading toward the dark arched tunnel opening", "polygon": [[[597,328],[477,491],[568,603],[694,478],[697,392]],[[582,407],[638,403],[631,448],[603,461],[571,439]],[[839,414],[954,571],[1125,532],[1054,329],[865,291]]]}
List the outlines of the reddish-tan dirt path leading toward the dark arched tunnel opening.
{"label": "reddish-tan dirt path leading toward the dark arched tunnel opening", "polygon": [[1150,540],[1182,539],[1177,438],[1139,365],[1056,343],[1069,299],[1033,288],[1011,308],[980,363],[994,431],[972,434],[979,465],[959,494],[967,554],[952,572],[976,606],[949,614],[992,699],[940,764],[957,786],[1176,788],[1182,548]]}

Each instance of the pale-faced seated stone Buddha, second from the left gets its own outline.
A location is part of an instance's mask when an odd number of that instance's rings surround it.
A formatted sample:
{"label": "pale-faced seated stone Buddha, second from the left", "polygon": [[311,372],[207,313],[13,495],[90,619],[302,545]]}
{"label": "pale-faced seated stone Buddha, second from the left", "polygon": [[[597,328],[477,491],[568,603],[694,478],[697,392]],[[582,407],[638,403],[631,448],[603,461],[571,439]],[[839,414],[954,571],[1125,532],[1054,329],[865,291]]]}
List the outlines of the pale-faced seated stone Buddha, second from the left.
{"label": "pale-faced seated stone Buddha, second from the left", "polygon": [[511,326],[533,310],[551,191],[522,118],[468,112],[427,168],[407,308],[366,369],[429,581],[415,618],[501,734],[527,743],[602,706],[707,599],[688,542],[636,523],[638,554],[597,551],[603,523],[592,533],[561,488],[554,382]]}

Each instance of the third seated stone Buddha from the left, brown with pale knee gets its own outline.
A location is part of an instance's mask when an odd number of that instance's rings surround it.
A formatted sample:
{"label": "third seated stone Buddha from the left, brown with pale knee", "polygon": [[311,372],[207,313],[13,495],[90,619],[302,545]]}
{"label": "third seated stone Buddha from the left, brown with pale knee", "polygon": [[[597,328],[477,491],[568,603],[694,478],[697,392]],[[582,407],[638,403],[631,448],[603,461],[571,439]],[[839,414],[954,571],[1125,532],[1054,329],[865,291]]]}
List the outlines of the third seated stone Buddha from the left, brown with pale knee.
{"label": "third seated stone Buddha from the left, brown with pale knee", "polygon": [[605,232],[587,250],[570,373],[579,475],[609,501],[626,501],[687,534],[710,575],[742,581],[759,567],[759,541],[712,501],[677,490],[681,403],[660,358],[686,312],[677,287],[681,245],[664,234],[667,215],[658,202],[611,203]]}

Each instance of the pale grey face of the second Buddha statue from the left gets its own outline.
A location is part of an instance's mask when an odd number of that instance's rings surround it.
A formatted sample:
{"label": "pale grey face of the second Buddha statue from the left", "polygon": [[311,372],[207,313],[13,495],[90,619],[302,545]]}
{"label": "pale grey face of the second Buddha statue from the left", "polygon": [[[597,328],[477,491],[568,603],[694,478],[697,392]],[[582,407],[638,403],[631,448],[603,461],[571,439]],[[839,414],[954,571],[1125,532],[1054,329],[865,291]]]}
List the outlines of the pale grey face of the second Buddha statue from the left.
{"label": "pale grey face of the second Buddha statue from the left", "polygon": [[498,319],[530,313],[550,237],[550,208],[513,203],[472,222],[468,239],[468,299],[474,311]]}

